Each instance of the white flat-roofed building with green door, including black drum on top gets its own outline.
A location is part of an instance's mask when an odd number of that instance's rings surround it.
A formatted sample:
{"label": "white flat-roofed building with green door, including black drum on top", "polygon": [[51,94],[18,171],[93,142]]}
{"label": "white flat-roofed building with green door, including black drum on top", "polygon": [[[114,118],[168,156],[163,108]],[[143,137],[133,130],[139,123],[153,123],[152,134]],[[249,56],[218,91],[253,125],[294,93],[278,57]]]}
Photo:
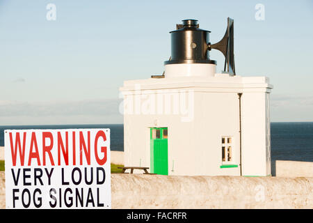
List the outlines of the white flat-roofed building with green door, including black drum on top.
{"label": "white flat-roofed building with green door, including black drum on top", "polygon": [[193,51],[209,48],[209,31],[195,21],[183,20],[171,32],[172,60],[162,78],[125,81],[120,88],[125,167],[164,175],[271,175],[272,86],[267,77],[216,73],[207,49]]}

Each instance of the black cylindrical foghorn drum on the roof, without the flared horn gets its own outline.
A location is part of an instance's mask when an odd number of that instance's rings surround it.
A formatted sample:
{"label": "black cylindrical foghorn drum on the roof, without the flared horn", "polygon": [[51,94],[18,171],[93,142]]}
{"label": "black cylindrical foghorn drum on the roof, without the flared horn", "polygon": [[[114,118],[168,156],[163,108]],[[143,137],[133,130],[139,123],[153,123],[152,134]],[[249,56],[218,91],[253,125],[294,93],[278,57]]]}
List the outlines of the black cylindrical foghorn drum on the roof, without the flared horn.
{"label": "black cylindrical foghorn drum on the roof, without the flared horn", "polygon": [[174,63],[216,63],[209,59],[210,31],[198,28],[198,20],[182,20],[181,29],[170,32],[171,59],[165,64]]}

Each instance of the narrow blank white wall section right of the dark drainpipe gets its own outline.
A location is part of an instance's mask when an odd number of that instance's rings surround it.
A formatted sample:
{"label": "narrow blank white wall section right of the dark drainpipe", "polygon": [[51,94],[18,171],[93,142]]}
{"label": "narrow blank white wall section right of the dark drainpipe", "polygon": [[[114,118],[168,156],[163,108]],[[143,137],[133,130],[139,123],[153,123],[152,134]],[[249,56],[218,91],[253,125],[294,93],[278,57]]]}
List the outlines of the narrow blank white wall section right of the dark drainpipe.
{"label": "narrow blank white wall section right of the dark drainpipe", "polygon": [[241,97],[243,176],[271,174],[268,94],[246,92]]}

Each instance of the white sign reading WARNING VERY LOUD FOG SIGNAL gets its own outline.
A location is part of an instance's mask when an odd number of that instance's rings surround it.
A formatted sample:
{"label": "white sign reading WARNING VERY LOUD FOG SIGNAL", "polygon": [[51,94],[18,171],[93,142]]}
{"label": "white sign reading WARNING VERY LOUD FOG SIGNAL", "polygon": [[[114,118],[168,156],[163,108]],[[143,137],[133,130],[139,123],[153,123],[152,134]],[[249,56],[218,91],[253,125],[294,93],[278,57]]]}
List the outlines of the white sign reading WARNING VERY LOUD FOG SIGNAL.
{"label": "white sign reading WARNING VERY LOUD FOG SIGNAL", "polygon": [[111,208],[109,129],[4,133],[6,208]]}

